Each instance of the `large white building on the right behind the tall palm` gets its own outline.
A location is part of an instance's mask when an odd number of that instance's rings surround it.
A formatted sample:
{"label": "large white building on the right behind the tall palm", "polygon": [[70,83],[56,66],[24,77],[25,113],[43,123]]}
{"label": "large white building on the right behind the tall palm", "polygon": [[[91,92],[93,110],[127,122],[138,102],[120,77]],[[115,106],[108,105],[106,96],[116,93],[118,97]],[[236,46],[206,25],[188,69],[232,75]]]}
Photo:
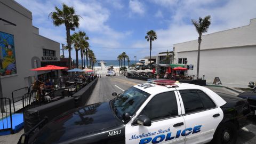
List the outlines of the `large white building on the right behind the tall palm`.
{"label": "large white building on the right behind the tall palm", "polygon": [[[194,65],[196,75],[198,42],[174,44],[174,63]],[[206,83],[219,77],[223,85],[247,87],[256,81],[256,19],[250,25],[202,36],[199,76]]]}

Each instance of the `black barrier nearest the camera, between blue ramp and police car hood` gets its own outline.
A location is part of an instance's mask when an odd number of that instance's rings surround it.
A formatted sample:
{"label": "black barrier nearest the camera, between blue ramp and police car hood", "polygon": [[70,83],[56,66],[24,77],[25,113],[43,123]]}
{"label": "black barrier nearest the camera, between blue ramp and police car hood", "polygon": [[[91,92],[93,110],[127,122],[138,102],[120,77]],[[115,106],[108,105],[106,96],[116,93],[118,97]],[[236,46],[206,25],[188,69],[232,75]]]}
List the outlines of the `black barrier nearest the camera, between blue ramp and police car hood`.
{"label": "black barrier nearest the camera, between blue ramp and police car hood", "polygon": [[[25,111],[24,115],[24,131],[25,133],[33,129],[45,116],[51,121],[54,117],[75,108],[74,98],[64,98],[58,101],[48,103],[36,108],[31,108]],[[35,133],[37,129],[32,132]]]}

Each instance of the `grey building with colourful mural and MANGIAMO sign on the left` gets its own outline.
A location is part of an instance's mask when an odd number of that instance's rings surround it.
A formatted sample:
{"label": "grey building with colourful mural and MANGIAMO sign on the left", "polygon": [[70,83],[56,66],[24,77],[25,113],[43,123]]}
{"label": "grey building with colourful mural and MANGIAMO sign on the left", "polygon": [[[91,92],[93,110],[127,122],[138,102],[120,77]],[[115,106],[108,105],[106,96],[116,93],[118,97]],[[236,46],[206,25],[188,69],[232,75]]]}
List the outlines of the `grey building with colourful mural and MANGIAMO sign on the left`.
{"label": "grey building with colourful mural and MANGIAMO sign on the left", "polygon": [[[5,40],[4,40],[5,39]],[[7,39],[7,40],[6,40]],[[3,97],[29,86],[37,67],[61,65],[60,44],[39,35],[32,13],[13,0],[0,1],[0,76]],[[38,72],[41,74],[42,72]]]}

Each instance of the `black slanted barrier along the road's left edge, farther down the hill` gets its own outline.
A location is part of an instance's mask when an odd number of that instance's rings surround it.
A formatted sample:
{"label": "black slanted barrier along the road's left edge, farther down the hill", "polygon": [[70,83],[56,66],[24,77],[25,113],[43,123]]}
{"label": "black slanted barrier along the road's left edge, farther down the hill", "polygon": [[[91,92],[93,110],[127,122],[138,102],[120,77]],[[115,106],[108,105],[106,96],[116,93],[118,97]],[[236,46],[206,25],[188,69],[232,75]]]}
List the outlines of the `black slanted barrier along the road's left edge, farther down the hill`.
{"label": "black slanted barrier along the road's left edge, farther down the hill", "polygon": [[83,87],[83,89],[73,94],[72,97],[75,98],[75,107],[81,107],[85,105],[97,82],[98,78],[95,78],[91,83]]}

